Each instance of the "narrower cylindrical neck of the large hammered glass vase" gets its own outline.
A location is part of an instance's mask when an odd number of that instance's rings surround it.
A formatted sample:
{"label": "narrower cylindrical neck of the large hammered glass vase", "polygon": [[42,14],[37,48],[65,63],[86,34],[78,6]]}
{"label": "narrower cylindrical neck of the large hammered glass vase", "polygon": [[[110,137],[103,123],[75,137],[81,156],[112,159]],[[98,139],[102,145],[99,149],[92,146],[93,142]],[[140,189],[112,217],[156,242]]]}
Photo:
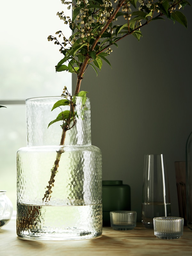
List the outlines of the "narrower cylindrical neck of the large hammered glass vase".
{"label": "narrower cylindrical neck of the large hammered glass vase", "polygon": [[[91,111],[90,101],[86,98],[85,105],[82,104],[82,97],[73,97],[76,99],[75,111],[76,125],[68,130],[65,138],[65,145],[91,145]],[[54,103],[63,100],[63,97],[42,97],[26,100],[27,110],[27,145],[60,145],[61,122],[53,123],[49,128],[48,124],[56,119],[58,114],[65,110],[70,110],[70,106],[52,107]],[[59,124],[60,123],[60,124]]]}

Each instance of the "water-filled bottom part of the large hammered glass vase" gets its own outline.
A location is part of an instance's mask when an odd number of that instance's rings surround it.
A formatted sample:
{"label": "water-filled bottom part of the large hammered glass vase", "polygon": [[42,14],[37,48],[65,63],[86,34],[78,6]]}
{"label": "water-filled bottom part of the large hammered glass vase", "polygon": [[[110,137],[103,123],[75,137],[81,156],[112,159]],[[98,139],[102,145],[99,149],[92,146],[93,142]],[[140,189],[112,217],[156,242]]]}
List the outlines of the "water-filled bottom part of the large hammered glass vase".
{"label": "water-filled bottom part of the large hammered glass vase", "polygon": [[17,209],[17,235],[22,239],[83,240],[102,234],[102,204],[28,205],[18,203]]}

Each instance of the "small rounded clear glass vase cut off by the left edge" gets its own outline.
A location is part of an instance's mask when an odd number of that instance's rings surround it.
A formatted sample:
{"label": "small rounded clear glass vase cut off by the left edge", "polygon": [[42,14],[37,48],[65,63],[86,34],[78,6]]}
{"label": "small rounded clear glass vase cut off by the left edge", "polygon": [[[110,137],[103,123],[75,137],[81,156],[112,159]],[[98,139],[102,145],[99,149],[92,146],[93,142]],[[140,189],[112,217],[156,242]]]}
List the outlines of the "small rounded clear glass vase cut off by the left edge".
{"label": "small rounded clear glass vase cut off by the left edge", "polygon": [[5,193],[6,190],[0,190],[0,228],[10,221],[13,212],[12,202]]}

